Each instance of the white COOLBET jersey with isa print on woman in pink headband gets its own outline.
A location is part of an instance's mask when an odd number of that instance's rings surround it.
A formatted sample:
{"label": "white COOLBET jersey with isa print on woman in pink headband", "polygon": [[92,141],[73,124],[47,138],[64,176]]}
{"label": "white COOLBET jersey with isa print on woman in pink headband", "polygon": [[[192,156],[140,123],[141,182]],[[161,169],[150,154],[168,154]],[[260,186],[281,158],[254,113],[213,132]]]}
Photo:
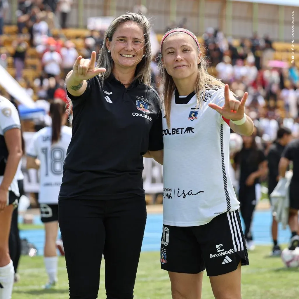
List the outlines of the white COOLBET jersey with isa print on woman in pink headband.
{"label": "white COOLBET jersey with isa print on woman in pink headband", "polygon": [[194,93],[188,99],[179,103],[174,93],[170,129],[163,117],[165,225],[204,225],[239,208],[229,176],[230,127],[208,106],[224,105],[224,89],[206,89],[198,108]]}

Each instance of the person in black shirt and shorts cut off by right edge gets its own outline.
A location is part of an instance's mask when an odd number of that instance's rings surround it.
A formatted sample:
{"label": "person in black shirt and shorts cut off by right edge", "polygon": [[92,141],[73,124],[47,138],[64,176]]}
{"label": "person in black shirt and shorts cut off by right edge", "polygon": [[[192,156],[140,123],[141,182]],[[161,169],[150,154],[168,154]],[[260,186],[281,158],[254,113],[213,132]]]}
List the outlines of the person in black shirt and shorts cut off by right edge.
{"label": "person in black shirt and shorts cut off by right edge", "polygon": [[279,174],[285,177],[290,161],[293,161],[293,176],[289,186],[289,227],[292,232],[289,249],[294,250],[299,247],[299,139],[292,140],[283,150],[279,161]]}

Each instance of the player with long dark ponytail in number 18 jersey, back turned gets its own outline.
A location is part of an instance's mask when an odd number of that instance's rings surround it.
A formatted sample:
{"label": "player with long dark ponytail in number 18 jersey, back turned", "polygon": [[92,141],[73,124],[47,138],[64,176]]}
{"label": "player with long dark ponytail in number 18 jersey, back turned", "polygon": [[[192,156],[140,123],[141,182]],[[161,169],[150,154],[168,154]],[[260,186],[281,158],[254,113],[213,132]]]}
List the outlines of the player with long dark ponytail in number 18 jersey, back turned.
{"label": "player with long dark ponytail in number 18 jersey, back turned", "polygon": [[50,105],[52,127],[36,132],[27,151],[27,168],[40,170],[39,204],[45,224],[45,267],[49,276],[46,289],[57,282],[56,239],[58,231],[58,195],[63,174],[63,161],[71,141],[71,128],[65,126],[68,115],[65,102],[54,100]]}

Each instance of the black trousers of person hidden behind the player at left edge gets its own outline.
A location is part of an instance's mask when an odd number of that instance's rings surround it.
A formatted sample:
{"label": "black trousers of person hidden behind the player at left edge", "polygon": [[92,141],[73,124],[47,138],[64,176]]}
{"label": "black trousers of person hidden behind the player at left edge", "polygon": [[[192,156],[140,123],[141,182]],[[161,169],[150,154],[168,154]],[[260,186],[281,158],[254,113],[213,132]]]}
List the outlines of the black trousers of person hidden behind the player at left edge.
{"label": "black trousers of person hidden behind the player at left edge", "polygon": [[[20,197],[24,194],[23,180],[18,181]],[[13,210],[13,216],[11,219],[11,227],[9,234],[9,254],[13,261],[13,268],[17,273],[19,260],[21,257],[21,239],[18,227],[18,209]]]}

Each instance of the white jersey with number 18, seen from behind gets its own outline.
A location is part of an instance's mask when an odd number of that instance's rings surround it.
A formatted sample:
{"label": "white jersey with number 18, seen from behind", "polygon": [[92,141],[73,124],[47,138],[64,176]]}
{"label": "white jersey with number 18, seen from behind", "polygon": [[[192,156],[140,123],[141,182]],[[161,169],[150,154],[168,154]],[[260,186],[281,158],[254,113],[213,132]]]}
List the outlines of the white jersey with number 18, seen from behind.
{"label": "white jersey with number 18, seen from behind", "polygon": [[63,162],[71,141],[72,129],[61,127],[61,139],[51,144],[52,128],[45,127],[33,135],[27,155],[40,160],[39,203],[58,204]]}

